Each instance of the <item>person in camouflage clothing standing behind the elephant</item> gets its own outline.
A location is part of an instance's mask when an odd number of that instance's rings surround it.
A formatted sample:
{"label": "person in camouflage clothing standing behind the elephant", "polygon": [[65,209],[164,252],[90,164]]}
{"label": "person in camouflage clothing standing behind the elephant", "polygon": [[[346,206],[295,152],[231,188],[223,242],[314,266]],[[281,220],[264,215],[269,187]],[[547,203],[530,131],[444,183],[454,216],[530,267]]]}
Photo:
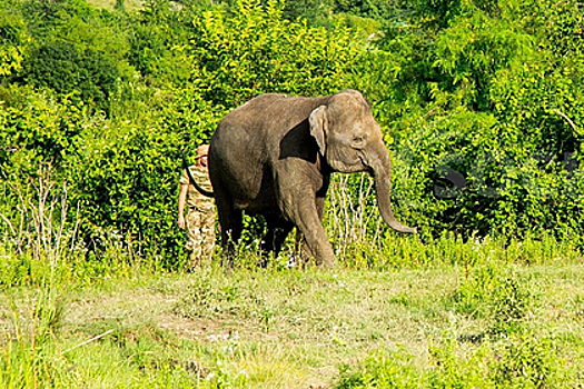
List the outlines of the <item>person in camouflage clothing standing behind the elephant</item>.
{"label": "person in camouflage clothing standing behind the elephant", "polygon": [[[212,190],[207,168],[208,144],[197,148],[195,164],[189,171],[198,184],[206,190]],[[187,217],[185,218],[185,205]],[[215,209],[212,199],[202,196],[190,182],[187,169],[180,178],[180,193],[178,197],[178,227],[187,229],[187,269],[194,270],[210,263],[215,247]]]}

